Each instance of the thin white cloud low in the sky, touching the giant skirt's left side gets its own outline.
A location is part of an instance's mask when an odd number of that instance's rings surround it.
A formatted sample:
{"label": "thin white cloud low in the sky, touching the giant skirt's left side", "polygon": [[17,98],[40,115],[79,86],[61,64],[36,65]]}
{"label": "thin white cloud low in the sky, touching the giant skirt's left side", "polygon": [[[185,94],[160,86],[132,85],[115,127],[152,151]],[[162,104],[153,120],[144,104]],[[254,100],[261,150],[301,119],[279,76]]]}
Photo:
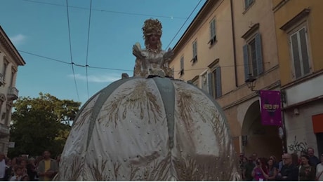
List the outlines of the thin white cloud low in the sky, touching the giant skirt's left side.
{"label": "thin white cloud low in the sky, touching the giant skirt's left side", "polygon": [[[74,78],[72,74],[69,75],[71,78]],[[81,74],[75,74],[75,78],[78,80],[84,80],[86,81],[86,76],[81,75]],[[121,78],[120,76],[117,76],[115,74],[113,75],[88,75],[88,82],[93,82],[93,83],[111,83],[114,82],[115,80],[119,80]]]}

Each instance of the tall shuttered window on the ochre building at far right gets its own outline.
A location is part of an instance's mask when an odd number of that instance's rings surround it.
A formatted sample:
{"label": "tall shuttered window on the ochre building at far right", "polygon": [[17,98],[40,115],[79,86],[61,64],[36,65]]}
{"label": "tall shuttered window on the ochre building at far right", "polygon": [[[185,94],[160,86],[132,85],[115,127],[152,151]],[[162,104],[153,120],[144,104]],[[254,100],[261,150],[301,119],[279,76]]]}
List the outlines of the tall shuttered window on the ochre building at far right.
{"label": "tall shuttered window on the ochre building at far right", "polygon": [[297,29],[296,32],[289,35],[291,62],[294,65],[294,78],[301,78],[310,73],[306,32],[306,27],[301,27],[301,29]]}

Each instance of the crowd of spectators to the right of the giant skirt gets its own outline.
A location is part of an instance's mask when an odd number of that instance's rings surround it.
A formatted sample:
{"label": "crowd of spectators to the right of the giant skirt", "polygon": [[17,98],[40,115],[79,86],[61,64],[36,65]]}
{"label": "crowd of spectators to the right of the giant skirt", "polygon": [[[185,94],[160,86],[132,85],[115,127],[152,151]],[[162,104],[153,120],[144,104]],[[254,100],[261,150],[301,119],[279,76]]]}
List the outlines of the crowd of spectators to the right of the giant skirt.
{"label": "crowd of spectators to the right of the giant skirt", "polygon": [[244,181],[323,181],[323,154],[320,159],[308,148],[298,155],[284,153],[277,161],[274,155],[259,158],[257,153],[239,155],[239,169]]}

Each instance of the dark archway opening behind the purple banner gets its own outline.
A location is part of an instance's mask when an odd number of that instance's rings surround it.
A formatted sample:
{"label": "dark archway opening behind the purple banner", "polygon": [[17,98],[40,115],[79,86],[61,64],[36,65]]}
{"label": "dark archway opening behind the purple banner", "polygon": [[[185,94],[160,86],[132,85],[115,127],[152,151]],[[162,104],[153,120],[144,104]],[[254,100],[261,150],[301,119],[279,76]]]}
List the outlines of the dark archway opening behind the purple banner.
{"label": "dark archway opening behind the purple banner", "polygon": [[242,136],[246,139],[242,150],[247,156],[256,152],[258,157],[269,158],[270,155],[275,155],[277,159],[281,158],[282,140],[278,136],[278,127],[261,124],[259,100],[253,102],[246,111]]}

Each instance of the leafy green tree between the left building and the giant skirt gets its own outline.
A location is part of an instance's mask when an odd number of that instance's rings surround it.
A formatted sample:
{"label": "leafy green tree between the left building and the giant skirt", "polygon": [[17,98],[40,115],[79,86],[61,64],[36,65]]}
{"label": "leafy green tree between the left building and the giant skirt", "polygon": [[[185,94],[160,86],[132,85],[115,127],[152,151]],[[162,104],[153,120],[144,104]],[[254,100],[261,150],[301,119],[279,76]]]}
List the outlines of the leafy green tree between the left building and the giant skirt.
{"label": "leafy green tree between the left building and the giant skirt", "polygon": [[41,155],[46,149],[52,156],[61,153],[80,105],[43,93],[37,98],[17,99],[10,127],[10,141],[15,142],[15,148],[9,148],[8,156]]}

